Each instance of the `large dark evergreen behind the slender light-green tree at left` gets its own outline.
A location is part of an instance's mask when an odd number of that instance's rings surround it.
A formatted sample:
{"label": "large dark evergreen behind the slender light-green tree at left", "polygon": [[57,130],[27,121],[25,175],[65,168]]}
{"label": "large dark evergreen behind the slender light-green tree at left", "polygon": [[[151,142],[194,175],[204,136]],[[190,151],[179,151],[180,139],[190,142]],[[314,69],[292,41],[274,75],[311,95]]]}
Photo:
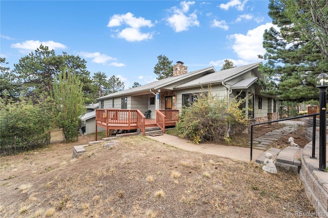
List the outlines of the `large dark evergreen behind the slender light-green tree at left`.
{"label": "large dark evergreen behind the slender light-green tree at left", "polygon": [[83,96],[85,101],[90,101],[92,80],[90,72],[87,71],[86,61],[79,56],[68,55],[66,52],[56,55],[54,50],[40,45],[35,52],[20,58],[18,63],[14,64],[14,73],[22,80],[25,97],[37,102],[40,98],[51,95],[52,82],[65,66],[83,82]]}

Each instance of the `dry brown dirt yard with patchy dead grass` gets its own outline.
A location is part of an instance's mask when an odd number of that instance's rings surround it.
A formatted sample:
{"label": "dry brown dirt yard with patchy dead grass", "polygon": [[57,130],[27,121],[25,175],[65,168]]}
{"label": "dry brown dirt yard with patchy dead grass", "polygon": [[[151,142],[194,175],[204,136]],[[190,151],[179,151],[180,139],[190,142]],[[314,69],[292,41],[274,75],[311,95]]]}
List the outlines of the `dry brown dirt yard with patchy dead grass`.
{"label": "dry brown dirt yard with patchy dead grass", "polygon": [[[293,135],[301,146],[302,131]],[[74,144],[60,143],[60,133],[52,137],[49,148],[1,157],[1,217],[294,217],[313,211],[299,175],[272,175],[255,163],[143,136],[120,138],[108,148],[87,146],[72,159],[73,145],[94,135]],[[288,145],[288,138],[275,146]],[[249,135],[234,140],[244,139]]]}

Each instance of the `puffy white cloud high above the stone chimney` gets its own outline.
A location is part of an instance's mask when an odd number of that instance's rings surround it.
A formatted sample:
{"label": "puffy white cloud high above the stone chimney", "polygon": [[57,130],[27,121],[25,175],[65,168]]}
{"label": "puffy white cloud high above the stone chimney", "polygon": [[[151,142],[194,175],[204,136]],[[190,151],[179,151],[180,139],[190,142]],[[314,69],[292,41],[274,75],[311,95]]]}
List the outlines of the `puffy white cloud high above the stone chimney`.
{"label": "puffy white cloud high above the stone chimney", "polygon": [[181,2],[180,9],[177,7],[171,8],[172,15],[166,19],[167,24],[172,27],[175,32],[181,32],[188,30],[189,27],[199,26],[199,21],[197,20],[196,11],[187,15],[189,7],[194,5],[195,2]]}

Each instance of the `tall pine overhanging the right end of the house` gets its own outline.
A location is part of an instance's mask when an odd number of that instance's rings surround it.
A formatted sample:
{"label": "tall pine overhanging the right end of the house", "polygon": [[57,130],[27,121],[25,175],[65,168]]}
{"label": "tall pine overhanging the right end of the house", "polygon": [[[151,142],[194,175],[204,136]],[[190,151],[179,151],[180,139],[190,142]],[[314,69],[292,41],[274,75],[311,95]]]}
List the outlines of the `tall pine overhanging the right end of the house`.
{"label": "tall pine overhanging the right end of the house", "polygon": [[279,30],[272,27],[263,35],[263,48],[267,52],[259,58],[268,61],[259,69],[268,80],[266,93],[294,102],[318,98],[315,78],[322,70],[322,52],[313,41],[303,39],[282,1],[271,0],[269,9]]}

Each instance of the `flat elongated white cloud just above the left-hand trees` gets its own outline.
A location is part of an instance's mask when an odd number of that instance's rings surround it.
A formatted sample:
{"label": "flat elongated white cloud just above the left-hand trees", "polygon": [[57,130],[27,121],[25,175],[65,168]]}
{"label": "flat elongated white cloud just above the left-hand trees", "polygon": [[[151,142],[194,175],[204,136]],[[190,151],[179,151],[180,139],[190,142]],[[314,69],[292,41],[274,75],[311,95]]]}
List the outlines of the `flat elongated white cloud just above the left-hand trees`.
{"label": "flat elongated white cloud just above the left-hand trees", "polygon": [[66,49],[66,46],[55,41],[39,41],[39,40],[27,40],[23,42],[11,44],[11,48],[20,49],[20,52],[26,53],[29,51],[34,51],[40,47],[40,45],[48,46],[49,50],[52,49]]}

